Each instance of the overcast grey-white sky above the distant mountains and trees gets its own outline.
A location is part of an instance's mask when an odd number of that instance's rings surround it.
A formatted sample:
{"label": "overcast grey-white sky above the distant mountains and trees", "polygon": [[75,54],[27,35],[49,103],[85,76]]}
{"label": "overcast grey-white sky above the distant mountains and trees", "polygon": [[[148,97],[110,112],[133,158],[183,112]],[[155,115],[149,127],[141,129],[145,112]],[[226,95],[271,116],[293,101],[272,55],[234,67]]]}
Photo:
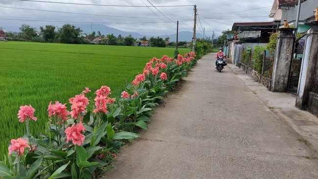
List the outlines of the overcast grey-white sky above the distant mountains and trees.
{"label": "overcast grey-white sky above the distant mountains and trees", "polygon": [[[0,0],[0,27],[19,31],[40,26],[99,23],[126,32],[157,36],[193,30],[211,37],[231,29],[234,22],[270,22],[274,0]],[[95,5],[93,5],[95,4]],[[91,29],[82,29],[91,32]],[[105,34],[106,35],[106,34]]]}

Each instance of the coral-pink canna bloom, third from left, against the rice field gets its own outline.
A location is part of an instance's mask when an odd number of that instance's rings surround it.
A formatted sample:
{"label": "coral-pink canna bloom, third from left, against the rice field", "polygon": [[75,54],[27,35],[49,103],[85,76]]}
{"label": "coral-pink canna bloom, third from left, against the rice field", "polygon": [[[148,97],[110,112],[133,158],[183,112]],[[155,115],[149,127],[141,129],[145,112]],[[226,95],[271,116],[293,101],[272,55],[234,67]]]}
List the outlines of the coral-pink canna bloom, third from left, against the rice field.
{"label": "coral-pink canna bloom, third from left, against the rice field", "polygon": [[52,104],[52,101],[47,107],[48,116],[55,116],[57,118],[62,118],[62,124],[64,121],[68,120],[68,115],[70,114],[67,110],[66,104],[59,103],[55,101],[55,104]]}

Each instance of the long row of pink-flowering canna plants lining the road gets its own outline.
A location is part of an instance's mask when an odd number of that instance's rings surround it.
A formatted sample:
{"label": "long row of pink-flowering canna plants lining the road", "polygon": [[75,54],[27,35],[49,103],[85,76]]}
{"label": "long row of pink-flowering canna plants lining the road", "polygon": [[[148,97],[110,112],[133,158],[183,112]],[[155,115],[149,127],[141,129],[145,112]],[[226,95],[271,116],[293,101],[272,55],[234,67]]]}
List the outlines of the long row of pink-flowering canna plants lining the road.
{"label": "long row of pink-flowering canna plants lining the road", "polygon": [[70,111],[67,104],[50,102],[47,130],[40,138],[29,132],[38,120],[35,109],[21,106],[18,118],[25,123],[26,133],[11,140],[7,159],[0,161],[0,178],[98,178],[122,141],[139,137],[137,130],[148,128],[154,108],[186,76],[196,63],[194,57],[190,52],[178,59],[153,58],[120,93],[112,94],[107,86],[96,90],[93,104],[86,97],[88,88],[69,98]]}

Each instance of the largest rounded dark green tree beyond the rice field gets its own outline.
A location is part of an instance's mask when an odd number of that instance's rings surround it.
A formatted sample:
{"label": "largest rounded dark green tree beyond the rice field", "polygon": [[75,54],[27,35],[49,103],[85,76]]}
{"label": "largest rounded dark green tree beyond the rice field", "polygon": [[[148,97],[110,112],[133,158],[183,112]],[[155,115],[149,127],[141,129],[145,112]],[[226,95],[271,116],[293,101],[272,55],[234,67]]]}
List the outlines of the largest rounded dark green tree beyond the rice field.
{"label": "largest rounded dark green tree beyond the rice field", "polygon": [[62,44],[81,44],[81,32],[82,30],[74,25],[64,24],[57,32],[56,41]]}

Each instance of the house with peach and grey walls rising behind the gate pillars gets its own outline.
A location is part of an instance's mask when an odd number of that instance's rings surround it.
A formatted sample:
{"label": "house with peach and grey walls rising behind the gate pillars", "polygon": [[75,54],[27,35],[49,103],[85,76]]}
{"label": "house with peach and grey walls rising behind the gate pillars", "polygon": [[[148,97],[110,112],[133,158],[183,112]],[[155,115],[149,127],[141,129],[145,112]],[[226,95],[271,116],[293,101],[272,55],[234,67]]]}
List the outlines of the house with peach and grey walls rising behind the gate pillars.
{"label": "house with peach and grey walls rising behind the gate pillars", "polygon": [[[299,21],[297,32],[302,33],[309,29],[306,22],[311,22],[314,19],[313,10],[318,6],[317,0],[301,0]],[[279,28],[283,27],[284,19],[290,26],[295,25],[297,19],[298,0],[274,0],[272,10],[269,17],[273,21],[279,22]]]}

